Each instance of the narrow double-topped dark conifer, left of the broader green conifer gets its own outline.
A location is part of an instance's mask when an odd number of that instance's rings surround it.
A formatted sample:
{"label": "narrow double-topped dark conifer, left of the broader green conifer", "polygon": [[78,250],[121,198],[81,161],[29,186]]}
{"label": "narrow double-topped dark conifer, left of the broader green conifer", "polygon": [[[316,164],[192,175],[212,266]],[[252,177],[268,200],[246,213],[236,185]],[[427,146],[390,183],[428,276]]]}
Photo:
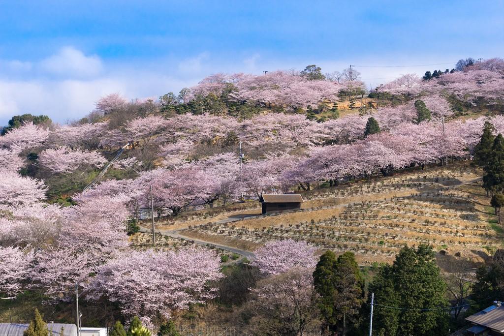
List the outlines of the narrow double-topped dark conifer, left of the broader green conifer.
{"label": "narrow double-topped dark conifer, left of the broader green conifer", "polygon": [[313,285],[320,295],[319,307],[326,327],[343,336],[356,333],[364,303],[364,279],[355,255],[345,252],[336,258],[332,251],[324,253],[313,272]]}

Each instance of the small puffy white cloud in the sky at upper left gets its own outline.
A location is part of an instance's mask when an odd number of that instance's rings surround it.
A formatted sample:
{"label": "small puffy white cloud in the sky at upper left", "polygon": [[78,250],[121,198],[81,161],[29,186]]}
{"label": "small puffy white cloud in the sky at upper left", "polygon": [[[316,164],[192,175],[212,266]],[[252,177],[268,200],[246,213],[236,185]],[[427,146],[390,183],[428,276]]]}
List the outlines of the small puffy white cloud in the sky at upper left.
{"label": "small puffy white cloud in the sky at upper left", "polygon": [[74,47],[64,47],[42,60],[40,68],[53,75],[65,78],[92,78],[100,75],[103,64],[97,55],[86,56]]}

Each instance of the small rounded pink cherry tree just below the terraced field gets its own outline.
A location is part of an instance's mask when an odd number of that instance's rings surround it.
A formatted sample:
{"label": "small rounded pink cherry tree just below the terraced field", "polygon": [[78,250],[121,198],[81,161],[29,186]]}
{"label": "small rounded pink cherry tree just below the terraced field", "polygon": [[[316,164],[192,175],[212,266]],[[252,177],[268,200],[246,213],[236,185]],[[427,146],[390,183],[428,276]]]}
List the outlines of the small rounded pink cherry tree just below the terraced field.
{"label": "small rounded pink cherry tree just below the terraced field", "polygon": [[304,241],[271,241],[256,250],[256,259],[252,264],[267,275],[282,274],[296,267],[312,268],[317,263],[315,250]]}

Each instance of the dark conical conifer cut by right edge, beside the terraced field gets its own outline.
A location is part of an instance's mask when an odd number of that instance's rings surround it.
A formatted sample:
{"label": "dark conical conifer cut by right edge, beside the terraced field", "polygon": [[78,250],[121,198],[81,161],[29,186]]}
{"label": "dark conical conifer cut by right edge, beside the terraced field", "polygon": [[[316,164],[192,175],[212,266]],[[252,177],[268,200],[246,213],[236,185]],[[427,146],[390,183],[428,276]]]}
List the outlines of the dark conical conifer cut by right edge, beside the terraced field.
{"label": "dark conical conifer cut by right edge, beside the terraced field", "polygon": [[499,134],[493,141],[492,151],[483,167],[483,187],[488,192],[504,190],[504,138]]}

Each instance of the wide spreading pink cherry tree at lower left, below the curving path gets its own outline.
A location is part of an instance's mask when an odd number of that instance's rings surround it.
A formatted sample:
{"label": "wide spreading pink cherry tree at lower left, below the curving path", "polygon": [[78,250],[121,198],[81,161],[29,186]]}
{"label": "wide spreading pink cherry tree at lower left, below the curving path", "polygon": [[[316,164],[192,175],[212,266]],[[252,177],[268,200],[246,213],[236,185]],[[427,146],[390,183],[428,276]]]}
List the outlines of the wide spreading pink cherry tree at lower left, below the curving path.
{"label": "wide spreading pink cherry tree at lower left, below the curving path", "polygon": [[87,295],[106,296],[127,316],[170,318],[172,310],[214,298],[210,282],[222,277],[217,255],[207,250],[128,251],[98,268]]}

